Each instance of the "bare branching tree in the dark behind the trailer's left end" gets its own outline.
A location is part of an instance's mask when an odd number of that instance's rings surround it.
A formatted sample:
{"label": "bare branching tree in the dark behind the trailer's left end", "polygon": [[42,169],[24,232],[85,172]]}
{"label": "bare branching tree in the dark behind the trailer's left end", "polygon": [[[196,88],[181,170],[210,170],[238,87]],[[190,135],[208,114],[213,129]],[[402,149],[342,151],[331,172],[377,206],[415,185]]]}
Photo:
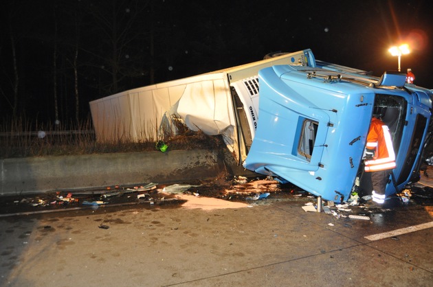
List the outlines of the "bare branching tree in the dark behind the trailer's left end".
{"label": "bare branching tree in the dark behind the trailer's left end", "polygon": [[[140,41],[142,34],[139,27],[148,1],[140,0],[104,0],[88,3],[93,27],[93,34],[99,35],[98,43],[93,43],[86,51],[93,55],[88,64],[100,69],[102,77],[109,75],[110,81],[102,84],[105,93],[120,91],[122,80],[128,77],[140,77],[145,73],[140,66]],[[137,27],[138,26],[138,27]],[[95,49],[96,48],[96,49]]]}

